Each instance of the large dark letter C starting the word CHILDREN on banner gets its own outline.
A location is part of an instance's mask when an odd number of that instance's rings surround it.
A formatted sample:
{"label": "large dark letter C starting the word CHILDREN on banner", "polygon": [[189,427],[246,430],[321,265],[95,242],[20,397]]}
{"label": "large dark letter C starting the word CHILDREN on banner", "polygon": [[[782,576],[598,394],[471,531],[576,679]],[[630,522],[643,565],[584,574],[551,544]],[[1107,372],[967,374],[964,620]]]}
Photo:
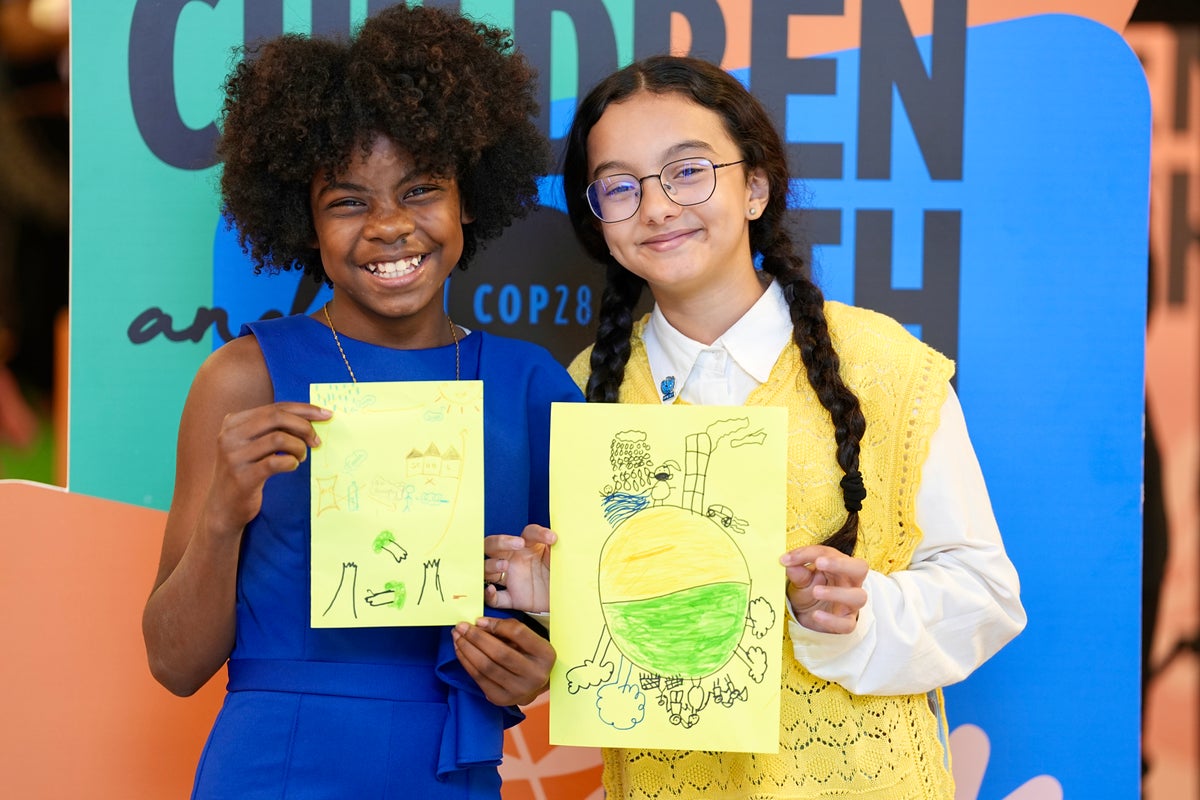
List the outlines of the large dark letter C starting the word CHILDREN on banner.
{"label": "large dark letter C starting the word CHILDREN on banner", "polygon": [[[217,162],[217,126],[188,127],[175,96],[175,28],[190,2],[216,7],[221,0],[138,0],[130,24],[130,101],[142,140],[163,162],[206,169]],[[252,5],[247,2],[247,5]]]}

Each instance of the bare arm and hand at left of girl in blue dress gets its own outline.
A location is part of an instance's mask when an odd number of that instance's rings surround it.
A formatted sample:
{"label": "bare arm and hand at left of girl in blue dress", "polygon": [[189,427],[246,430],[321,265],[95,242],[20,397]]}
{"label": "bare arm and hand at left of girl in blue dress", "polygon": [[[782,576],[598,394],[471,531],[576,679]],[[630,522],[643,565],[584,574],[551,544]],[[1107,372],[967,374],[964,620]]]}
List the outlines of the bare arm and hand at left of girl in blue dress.
{"label": "bare arm and hand at left of girl in blue dress", "polygon": [[154,590],[142,616],[150,672],[196,692],[233,650],[238,558],[263,486],[317,444],[307,403],[272,403],[258,342],[234,339],[200,367],[179,426],[175,491]]}

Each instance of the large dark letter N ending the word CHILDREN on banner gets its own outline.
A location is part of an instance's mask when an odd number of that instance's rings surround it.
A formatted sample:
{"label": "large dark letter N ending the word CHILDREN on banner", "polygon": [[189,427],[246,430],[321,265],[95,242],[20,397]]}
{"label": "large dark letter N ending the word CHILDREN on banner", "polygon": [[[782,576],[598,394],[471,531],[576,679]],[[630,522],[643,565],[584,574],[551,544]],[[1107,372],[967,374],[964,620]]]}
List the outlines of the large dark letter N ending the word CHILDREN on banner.
{"label": "large dark letter N ending the word CHILDREN on banner", "polygon": [[930,70],[900,0],[863,0],[858,88],[858,178],[892,178],[892,88],[908,114],[934,180],[962,180],[967,2],[935,0]]}

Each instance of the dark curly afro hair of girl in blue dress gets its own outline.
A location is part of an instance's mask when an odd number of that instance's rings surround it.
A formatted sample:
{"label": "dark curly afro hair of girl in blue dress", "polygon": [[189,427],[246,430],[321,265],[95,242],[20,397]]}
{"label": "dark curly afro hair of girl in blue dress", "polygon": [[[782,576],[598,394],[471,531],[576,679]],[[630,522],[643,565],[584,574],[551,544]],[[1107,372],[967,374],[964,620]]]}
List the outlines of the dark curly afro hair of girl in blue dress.
{"label": "dark curly afro hair of girl in blue dress", "polygon": [[396,5],[349,38],[284,34],[242,50],[224,83],[217,154],[222,212],[254,271],[329,282],[310,186],[376,136],[454,178],[474,222],[458,266],[538,203],[548,145],[533,119],[536,74],[511,35],[436,8]]}

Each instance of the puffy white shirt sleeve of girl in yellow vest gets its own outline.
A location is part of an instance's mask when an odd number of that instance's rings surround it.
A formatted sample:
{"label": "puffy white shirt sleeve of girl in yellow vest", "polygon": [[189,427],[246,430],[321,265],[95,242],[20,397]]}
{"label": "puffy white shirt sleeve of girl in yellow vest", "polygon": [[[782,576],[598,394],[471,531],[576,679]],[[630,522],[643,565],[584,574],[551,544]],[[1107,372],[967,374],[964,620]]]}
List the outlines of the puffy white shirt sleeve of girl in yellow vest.
{"label": "puffy white shirt sleeve of girl in yellow vest", "polygon": [[868,573],[852,633],[811,631],[788,609],[797,661],[856,694],[919,694],[958,682],[1025,627],[1016,570],[953,389],[916,503],[924,536],[912,564]]}

